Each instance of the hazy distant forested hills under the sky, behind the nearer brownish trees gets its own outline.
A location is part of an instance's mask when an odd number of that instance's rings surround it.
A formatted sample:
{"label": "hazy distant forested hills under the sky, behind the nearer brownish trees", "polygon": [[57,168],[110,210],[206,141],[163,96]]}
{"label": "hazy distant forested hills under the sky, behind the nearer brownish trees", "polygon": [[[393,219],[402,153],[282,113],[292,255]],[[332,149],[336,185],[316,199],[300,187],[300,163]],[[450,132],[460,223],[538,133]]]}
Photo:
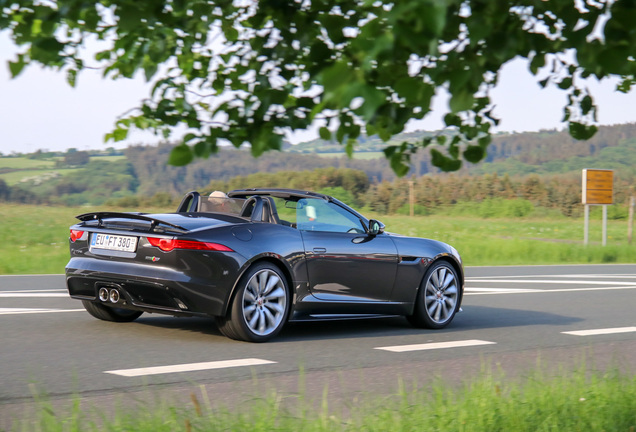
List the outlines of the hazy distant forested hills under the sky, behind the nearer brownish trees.
{"label": "hazy distant forested hills under the sky, behind the nearer brownish trees", "polygon": [[[418,141],[430,134],[424,131],[400,134],[392,142]],[[371,155],[381,152],[386,145],[377,137],[367,137],[360,140],[356,151]],[[364,171],[371,183],[396,178],[383,157],[349,159],[342,146],[322,140],[289,146],[282,152],[268,152],[257,159],[249,151],[224,148],[208,159],[198,159],[184,167],[167,165],[173,146],[137,145],[117,155],[97,151],[83,155],[69,150],[0,157],[0,200],[2,196],[20,196],[29,201],[95,204],[109,197],[135,194],[152,196],[161,192],[179,196],[188,190],[205,188],[213,181],[229,181],[237,176],[328,167]],[[317,157],[320,155],[330,157]],[[409,177],[440,174],[432,166],[427,149],[413,155],[411,162]],[[580,178],[583,168],[614,169],[632,184],[636,176],[636,124],[600,127],[588,141],[576,141],[567,132],[555,130],[499,134],[488,148],[486,160],[477,165],[465,164],[452,175],[496,173],[520,178],[566,174]]]}

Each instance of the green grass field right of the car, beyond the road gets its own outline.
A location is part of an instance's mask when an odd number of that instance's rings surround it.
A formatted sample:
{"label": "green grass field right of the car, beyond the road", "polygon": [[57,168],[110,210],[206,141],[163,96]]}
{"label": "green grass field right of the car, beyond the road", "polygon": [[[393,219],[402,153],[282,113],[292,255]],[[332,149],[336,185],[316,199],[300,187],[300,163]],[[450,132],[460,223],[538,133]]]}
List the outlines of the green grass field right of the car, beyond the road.
{"label": "green grass field right of the car, beyond the road", "polygon": [[464,265],[632,263],[636,244],[627,243],[627,222],[608,221],[607,246],[601,221],[590,221],[583,246],[582,219],[481,219],[459,216],[382,216],[389,232],[453,245]]}

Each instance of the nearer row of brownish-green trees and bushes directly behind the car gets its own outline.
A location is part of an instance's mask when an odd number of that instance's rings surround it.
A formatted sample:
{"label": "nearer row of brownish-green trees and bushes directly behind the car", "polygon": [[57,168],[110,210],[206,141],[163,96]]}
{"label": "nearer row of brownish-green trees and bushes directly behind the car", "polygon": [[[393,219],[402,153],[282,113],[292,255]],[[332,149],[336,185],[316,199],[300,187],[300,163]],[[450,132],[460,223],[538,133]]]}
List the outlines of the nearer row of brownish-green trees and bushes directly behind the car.
{"label": "nearer row of brownish-green trees and bushes directly behind the car", "polygon": [[[532,214],[552,214],[579,217],[581,179],[574,175],[511,178],[508,175],[484,174],[463,176],[444,174],[413,179],[396,179],[370,183],[363,171],[322,168],[313,171],[280,171],[234,177],[228,181],[215,180],[201,192],[230,191],[248,187],[293,188],[312,190],[335,196],[363,211],[380,214],[409,214],[409,191],[413,188],[414,211],[418,215],[453,214],[489,217],[522,217]],[[615,182],[615,205],[610,207],[613,219],[627,216],[631,184]],[[110,200],[109,205],[131,207],[171,204],[176,207],[179,197],[170,202],[165,193],[153,197],[137,196]]]}

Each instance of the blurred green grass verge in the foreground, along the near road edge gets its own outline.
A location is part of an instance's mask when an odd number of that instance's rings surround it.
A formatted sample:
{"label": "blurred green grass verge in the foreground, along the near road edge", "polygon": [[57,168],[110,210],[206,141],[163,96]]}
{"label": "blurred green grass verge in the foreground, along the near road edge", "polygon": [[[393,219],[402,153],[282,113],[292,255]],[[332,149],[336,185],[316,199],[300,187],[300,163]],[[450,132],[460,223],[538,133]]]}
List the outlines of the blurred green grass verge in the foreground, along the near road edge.
{"label": "blurred green grass verge in the foreground, along the near road edge", "polygon": [[[198,392],[197,392],[198,393]],[[437,380],[417,387],[399,383],[392,395],[356,397],[330,405],[321,395],[253,398],[237,407],[212,407],[209,396],[190,401],[152,402],[113,414],[55,410],[40,401],[32,419],[12,431],[634,431],[636,378],[609,372],[535,373],[524,379],[484,372],[463,386]]]}

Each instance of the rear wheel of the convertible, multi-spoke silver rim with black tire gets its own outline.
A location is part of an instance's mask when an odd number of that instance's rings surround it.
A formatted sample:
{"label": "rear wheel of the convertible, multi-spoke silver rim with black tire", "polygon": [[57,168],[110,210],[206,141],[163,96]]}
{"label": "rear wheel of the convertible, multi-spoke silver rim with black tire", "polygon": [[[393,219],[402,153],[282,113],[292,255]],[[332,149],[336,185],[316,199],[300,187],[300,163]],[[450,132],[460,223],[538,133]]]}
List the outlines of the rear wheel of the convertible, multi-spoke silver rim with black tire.
{"label": "rear wheel of the convertible, multi-spoke silver rim with black tire", "polygon": [[238,283],[228,314],[217,317],[219,330],[235,340],[270,340],[287,321],[289,293],[287,279],[277,266],[264,262],[251,267]]}

